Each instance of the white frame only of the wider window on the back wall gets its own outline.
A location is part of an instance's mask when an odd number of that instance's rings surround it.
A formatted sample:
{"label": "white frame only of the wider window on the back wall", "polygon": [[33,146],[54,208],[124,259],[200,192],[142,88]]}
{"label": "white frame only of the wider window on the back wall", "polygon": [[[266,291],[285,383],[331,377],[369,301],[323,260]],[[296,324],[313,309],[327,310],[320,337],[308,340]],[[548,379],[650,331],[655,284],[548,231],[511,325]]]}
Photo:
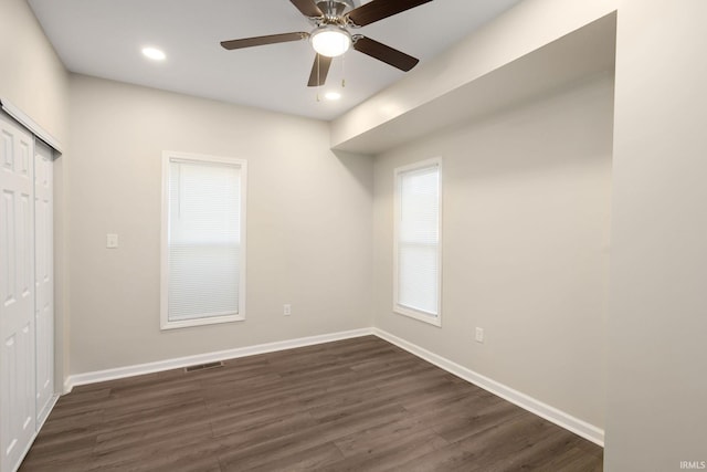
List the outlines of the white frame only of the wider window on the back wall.
{"label": "white frame only of the wider window on the back wall", "polygon": [[[239,248],[239,311],[236,314],[210,316],[193,319],[169,319],[169,186],[170,164],[175,160],[228,164],[240,167],[240,248]],[[246,276],[246,198],[247,161],[235,157],[209,156],[193,153],[162,151],[161,234],[160,234],[160,329],[177,329],[193,326],[214,325],[245,321],[245,276]]]}

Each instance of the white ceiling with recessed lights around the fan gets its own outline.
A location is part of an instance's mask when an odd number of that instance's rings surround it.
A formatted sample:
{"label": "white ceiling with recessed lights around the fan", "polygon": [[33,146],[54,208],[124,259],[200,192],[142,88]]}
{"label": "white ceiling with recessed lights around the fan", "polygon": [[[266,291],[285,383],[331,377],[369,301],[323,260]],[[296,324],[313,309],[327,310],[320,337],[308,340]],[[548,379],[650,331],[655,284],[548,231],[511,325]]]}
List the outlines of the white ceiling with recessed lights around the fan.
{"label": "white ceiling with recessed lights around the fan", "polygon": [[[288,0],[28,1],[65,66],[81,74],[327,120],[404,75],[349,51],[333,62],[324,87],[310,88],[307,41],[220,46],[223,40],[310,31]],[[356,32],[424,62],[519,1],[434,0]],[[144,57],[148,45],[163,50],[167,60]],[[329,90],[342,98],[317,101]]]}

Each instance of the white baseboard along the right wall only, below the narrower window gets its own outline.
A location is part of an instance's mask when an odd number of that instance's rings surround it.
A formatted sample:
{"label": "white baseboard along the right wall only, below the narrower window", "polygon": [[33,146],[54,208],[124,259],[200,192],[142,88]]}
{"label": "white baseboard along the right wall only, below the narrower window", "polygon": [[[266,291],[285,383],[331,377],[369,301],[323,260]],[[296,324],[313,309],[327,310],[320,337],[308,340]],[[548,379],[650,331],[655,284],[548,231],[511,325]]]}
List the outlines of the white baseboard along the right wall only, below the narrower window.
{"label": "white baseboard along the right wall only, below the narrower window", "polygon": [[506,385],[497,382],[486,376],[483,376],[478,373],[475,373],[466,367],[460,366],[452,360],[449,360],[442,356],[437,356],[434,353],[431,353],[415,344],[409,343],[404,339],[399,338],[388,332],[384,332],[379,328],[372,328],[372,332],[376,336],[384,339],[395,346],[405,349],[407,352],[414,354],[415,356],[434,364],[435,366],[446,370],[450,374],[454,374],[455,376],[463,378],[464,380],[476,385],[477,387],[483,388],[484,390],[490,391],[492,394],[510,401],[518,407],[530,411],[534,415],[537,415],[546,420],[564,428],[568,431],[573,432],[577,436],[580,436],[588,441],[593,442],[594,444],[604,447],[604,430],[597,428],[593,424],[588,423],[587,421],[580,420],[579,418],[574,418],[571,415],[566,413],[564,411],[558,410],[555,407],[550,407],[542,401],[536,400],[532,397],[529,397],[525,394],[521,394],[518,390],[515,390]]}

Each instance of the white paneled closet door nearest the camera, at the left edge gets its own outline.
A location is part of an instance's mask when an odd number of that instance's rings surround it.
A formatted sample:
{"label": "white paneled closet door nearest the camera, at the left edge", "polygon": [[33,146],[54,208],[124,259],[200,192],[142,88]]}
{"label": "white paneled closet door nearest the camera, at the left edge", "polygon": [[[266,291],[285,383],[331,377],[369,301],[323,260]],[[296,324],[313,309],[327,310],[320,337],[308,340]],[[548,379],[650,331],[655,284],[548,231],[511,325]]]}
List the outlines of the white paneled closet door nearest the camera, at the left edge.
{"label": "white paneled closet door nearest the camera, at the left edge", "polygon": [[35,431],[33,137],[0,116],[0,469]]}

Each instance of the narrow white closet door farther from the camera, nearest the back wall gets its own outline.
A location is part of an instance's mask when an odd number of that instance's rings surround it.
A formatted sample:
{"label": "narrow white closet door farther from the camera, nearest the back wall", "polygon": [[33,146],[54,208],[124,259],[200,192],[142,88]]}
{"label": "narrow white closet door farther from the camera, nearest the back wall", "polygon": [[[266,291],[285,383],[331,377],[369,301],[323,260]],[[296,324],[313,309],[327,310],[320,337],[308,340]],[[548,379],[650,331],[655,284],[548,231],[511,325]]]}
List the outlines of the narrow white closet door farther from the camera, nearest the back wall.
{"label": "narrow white closet door farther from the camera, nearest the back wall", "polygon": [[36,421],[44,422],[54,397],[54,238],[52,150],[34,143],[34,323],[36,331]]}

